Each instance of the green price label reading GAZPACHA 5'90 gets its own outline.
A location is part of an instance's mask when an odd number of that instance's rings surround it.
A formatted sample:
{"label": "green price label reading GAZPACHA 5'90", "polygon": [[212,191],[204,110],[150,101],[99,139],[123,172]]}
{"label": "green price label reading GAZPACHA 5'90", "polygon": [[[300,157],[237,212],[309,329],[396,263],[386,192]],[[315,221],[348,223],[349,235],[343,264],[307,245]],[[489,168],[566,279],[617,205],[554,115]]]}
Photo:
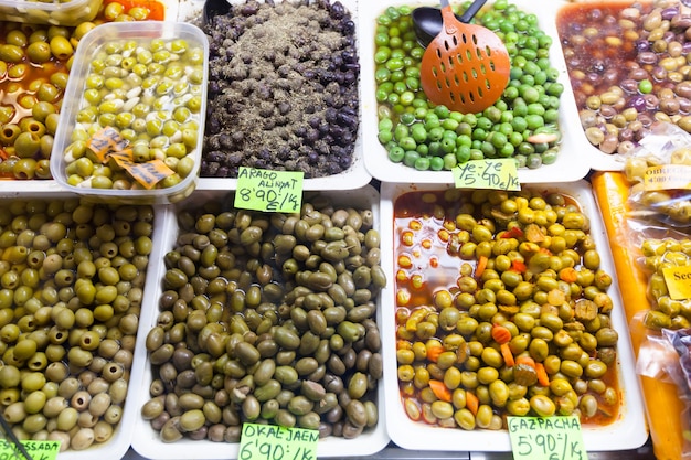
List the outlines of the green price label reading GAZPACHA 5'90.
{"label": "green price label reading GAZPACHA 5'90", "polygon": [[587,460],[577,417],[508,417],[514,460]]}

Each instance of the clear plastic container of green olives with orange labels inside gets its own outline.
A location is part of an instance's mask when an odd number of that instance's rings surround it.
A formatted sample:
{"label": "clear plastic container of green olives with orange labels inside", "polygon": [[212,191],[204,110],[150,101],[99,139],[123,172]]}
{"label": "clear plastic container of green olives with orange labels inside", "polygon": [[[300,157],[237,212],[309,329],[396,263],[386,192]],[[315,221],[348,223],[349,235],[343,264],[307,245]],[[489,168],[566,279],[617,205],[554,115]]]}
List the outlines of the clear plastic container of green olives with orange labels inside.
{"label": "clear plastic container of green olives with orange labels inside", "polygon": [[113,22],[88,32],[51,152],[55,181],[117,203],[189,196],[201,164],[208,63],[206,35],[193,24]]}

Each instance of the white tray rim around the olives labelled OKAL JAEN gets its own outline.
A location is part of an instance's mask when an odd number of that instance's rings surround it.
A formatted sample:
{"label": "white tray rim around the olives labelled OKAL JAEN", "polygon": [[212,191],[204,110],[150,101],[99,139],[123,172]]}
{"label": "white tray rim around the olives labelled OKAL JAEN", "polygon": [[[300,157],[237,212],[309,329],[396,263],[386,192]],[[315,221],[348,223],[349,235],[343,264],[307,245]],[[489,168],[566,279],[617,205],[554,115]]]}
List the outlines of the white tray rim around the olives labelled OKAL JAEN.
{"label": "white tray rim around the olives labelled OKAL JAEN", "polygon": [[[167,206],[163,217],[163,227],[166,228],[162,239],[162,246],[170,250],[178,237],[178,224],[176,221],[177,210],[189,208],[190,206],[201,205],[209,200],[222,200],[227,192],[220,191],[200,191],[196,190],[187,201],[176,206]],[[353,207],[371,208],[374,214],[375,227],[380,221],[379,193],[375,189],[366,185],[359,190],[344,192],[326,192],[325,195],[330,196],[334,203]],[[382,246],[386,247],[386,246]],[[150,268],[151,278],[158,282],[158,289],[151,289],[145,298],[145,304],[151,308],[142,310],[140,321],[140,334],[142,341],[146,339],[147,332],[156,325],[159,314],[158,300],[161,295],[160,280],[166,274],[166,267],[162,264],[162,257],[155,266]],[[381,304],[381,300],[378,302]],[[378,308],[376,321],[382,322],[382,309]],[[380,328],[381,329],[381,328]],[[394,355],[383,354],[384,362],[393,360]],[[146,359],[143,382],[141,384],[139,400],[136,405],[138,408],[149,400],[149,385],[152,375],[150,363]],[[344,439],[337,437],[328,437],[320,439],[317,445],[318,458],[331,458],[342,456],[364,457],[379,452],[389,443],[389,435],[386,434],[386,420],[384,409],[384,384],[380,381],[376,394],[376,406],[379,408],[379,422],[374,429],[365,430],[362,435],[354,439]],[[143,458],[150,460],[172,460],[172,459],[236,459],[238,452],[238,443],[212,442],[209,440],[194,441],[190,439],[181,439],[177,442],[164,443],[160,440],[158,431],[153,430],[149,421],[137,416],[134,420],[134,439],[132,448]]]}

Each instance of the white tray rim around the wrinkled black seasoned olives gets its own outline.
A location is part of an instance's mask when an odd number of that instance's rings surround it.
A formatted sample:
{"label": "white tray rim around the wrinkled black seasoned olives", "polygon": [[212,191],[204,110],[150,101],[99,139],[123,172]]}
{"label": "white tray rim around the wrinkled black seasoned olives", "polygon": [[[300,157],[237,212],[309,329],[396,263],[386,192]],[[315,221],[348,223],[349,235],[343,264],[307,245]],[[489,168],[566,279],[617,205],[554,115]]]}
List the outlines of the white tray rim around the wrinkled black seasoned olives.
{"label": "white tray rim around the wrinkled black seasoned olives", "polygon": [[[280,0],[276,0],[279,2]],[[298,3],[296,0],[286,0],[291,3]],[[259,3],[264,3],[264,0],[259,0]],[[310,3],[315,1],[310,0]],[[348,11],[350,11],[352,20],[357,23],[359,15],[359,8],[363,7],[363,2],[358,2],[357,0],[340,0],[340,2],[346,7]],[[240,4],[244,3],[243,0],[228,0],[231,4]],[[365,4],[366,7],[366,4]],[[185,4],[184,10],[190,14],[191,11],[195,11],[194,4]],[[181,10],[182,12],[183,10]],[[361,35],[359,31],[355,31],[355,41],[360,44],[362,43]],[[359,49],[360,60],[362,61],[362,51]],[[362,71],[361,71],[362,75]],[[361,98],[362,98],[362,77],[359,81],[359,85],[361,87]],[[355,147],[353,151],[353,161],[349,169],[346,171],[333,174],[325,178],[315,178],[315,179],[305,179],[302,182],[302,190],[305,191],[323,191],[323,190],[352,190],[359,189],[363,185],[366,185],[372,180],[372,175],[365,168],[365,143],[363,141],[364,133],[364,119],[362,115],[362,100],[360,101],[360,126],[358,128],[358,137],[355,139]],[[369,150],[369,149],[368,149]],[[196,190],[236,190],[237,189],[237,180],[236,179],[226,179],[226,178],[200,178],[196,183]]]}

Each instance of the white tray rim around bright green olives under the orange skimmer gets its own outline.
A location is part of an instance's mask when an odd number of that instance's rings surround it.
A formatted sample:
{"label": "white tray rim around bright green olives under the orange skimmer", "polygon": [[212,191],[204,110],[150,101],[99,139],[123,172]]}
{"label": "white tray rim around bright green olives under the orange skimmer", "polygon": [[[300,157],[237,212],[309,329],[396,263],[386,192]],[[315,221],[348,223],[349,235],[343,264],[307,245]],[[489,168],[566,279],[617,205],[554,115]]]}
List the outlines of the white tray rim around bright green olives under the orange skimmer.
{"label": "white tray rim around bright green olives under the orange skimmer", "polygon": [[[376,83],[374,81],[374,29],[376,17],[390,6],[417,6],[434,4],[434,1],[406,1],[386,0],[384,2],[368,1],[360,3],[360,62],[362,81],[362,125],[364,129],[364,142],[368,153],[364,157],[365,167],[372,176],[385,182],[416,182],[416,183],[453,183],[454,178],[450,171],[416,171],[402,163],[394,163],[389,160],[385,148],[378,139],[376,99],[374,97]],[[540,21],[540,28],[554,42],[556,26],[554,22],[554,3],[552,1],[529,1],[513,0],[519,9],[534,13]],[[582,141],[585,135],[581,129],[581,122],[576,110],[575,99],[568,94],[568,75],[562,55],[561,47],[554,43],[550,49],[550,62],[559,73],[559,82],[564,85],[564,93],[560,103],[560,127],[562,131],[562,142],[556,161],[553,164],[545,164],[538,169],[520,169],[519,180],[521,183],[536,182],[573,182],[585,178],[591,169],[589,152],[584,152]],[[568,85],[568,86],[567,86]],[[580,139],[583,137],[583,139]],[[586,141],[587,142],[587,141]]]}

